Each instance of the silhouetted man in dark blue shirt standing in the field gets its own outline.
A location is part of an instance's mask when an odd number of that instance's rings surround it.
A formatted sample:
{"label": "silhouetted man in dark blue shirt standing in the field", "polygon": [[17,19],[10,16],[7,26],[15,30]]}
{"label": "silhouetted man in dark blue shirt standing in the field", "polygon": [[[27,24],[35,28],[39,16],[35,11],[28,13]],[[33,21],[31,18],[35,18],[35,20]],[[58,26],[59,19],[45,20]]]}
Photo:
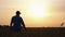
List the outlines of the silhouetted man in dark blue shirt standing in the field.
{"label": "silhouetted man in dark blue shirt standing in the field", "polygon": [[14,32],[20,32],[21,27],[25,28],[23,18],[20,16],[21,12],[16,11],[16,15],[11,20],[11,27]]}

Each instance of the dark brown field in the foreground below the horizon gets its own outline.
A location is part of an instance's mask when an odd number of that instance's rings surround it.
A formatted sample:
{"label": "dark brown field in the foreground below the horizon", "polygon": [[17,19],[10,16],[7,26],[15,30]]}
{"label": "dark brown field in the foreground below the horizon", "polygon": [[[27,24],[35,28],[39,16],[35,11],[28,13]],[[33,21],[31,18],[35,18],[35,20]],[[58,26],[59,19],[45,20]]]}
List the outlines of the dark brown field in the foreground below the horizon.
{"label": "dark brown field in the foreground below the horizon", "polygon": [[0,37],[65,37],[65,27],[27,27],[17,33],[0,26]]}

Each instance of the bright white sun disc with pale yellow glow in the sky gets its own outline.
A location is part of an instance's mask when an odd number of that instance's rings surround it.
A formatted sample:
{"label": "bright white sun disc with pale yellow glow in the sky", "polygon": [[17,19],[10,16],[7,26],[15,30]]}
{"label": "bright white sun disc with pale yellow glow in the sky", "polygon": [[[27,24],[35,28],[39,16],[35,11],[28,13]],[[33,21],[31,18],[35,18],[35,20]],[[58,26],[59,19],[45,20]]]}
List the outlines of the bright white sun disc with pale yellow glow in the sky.
{"label": "bright white sun disc with pale yellow glow in the sky", "polygon": [[42,16],[44,16],[46,15],[44,9],[41,5],[36,4],[35,7],[32,7],[31,15],[34,17],[42,17]]}

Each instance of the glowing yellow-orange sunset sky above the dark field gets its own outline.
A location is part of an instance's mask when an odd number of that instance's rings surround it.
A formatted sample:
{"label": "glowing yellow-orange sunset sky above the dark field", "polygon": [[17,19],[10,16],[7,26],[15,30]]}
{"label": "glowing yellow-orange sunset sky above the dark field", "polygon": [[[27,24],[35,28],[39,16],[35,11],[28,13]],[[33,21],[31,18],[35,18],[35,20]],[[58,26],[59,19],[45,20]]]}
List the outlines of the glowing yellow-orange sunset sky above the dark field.
{"label": "glowing yellow-orange sunset sky above the dark field", "polygon": [[26,27],[60,27],[65,22],[65,0],[0,0],[0,24],[10,25],[17,10]]}

